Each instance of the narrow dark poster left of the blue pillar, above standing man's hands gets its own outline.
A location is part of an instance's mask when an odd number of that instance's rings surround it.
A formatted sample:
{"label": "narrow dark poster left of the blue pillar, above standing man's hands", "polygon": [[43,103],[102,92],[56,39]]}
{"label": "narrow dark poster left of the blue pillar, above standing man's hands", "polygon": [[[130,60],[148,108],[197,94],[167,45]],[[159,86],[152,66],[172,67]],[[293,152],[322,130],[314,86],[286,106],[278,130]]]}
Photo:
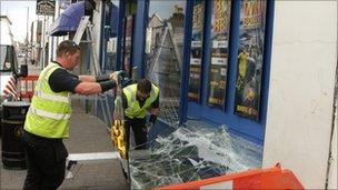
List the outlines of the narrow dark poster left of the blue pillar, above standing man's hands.
{"label": "narrow dark poster left of the blue pillar, above standing man's hands", "polygon": [[125,56],[123,56],[123,70],[131,77],[132,66],[132,33],[133,33],[133,16],[128,16],[126,21],[126,36],[125,36]]}

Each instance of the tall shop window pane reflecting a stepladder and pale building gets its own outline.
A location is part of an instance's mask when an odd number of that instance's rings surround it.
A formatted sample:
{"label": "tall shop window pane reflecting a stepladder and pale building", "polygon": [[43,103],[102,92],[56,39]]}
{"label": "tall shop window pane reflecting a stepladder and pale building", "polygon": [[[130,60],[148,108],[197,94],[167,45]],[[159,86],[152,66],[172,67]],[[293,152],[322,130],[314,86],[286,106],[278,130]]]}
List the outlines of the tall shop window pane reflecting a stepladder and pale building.
{"label": "tall shop window pane reflecting a stepladder and pale building", "polygon": [[149,1],[146,78],[160,88],[161,119],[178,121],[186,1]]}

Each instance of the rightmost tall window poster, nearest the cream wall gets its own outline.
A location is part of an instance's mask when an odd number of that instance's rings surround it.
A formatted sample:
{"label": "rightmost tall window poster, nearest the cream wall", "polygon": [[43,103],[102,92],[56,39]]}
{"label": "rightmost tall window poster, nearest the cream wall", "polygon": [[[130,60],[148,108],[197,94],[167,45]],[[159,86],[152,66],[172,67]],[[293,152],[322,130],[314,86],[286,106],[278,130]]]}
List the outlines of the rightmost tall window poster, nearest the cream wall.
{"label": "rightmost tall window poster, nearest the cream wall", "polygon": [[266,0],[241,0],[235,113],[258,120]]}

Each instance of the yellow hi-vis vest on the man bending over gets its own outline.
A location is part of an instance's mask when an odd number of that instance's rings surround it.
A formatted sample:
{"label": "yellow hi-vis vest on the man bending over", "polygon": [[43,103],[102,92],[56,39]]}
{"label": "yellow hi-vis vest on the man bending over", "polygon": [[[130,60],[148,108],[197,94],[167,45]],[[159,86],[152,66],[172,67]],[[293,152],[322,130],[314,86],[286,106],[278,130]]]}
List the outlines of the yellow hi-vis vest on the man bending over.
{"label": "yellow hi-vis vest on the man bending over", "polygon": [[127,98],[128,108],[125,110],[125,113],[129,118],[145,118],[147,114],[147,109],[156,101],[159,89],[152,84],[150,97],[146,100],[145,104],[140,108],[139,102],[136,100],[137,96],[137,84],[128,86],[123,89],[123,92]]}

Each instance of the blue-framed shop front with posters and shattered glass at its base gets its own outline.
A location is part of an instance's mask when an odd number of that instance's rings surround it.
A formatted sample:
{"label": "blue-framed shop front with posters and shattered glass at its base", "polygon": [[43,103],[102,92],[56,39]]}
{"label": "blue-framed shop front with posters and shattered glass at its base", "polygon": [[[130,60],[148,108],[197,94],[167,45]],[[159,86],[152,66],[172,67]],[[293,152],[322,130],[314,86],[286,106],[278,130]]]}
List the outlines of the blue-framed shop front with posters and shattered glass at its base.
{"label": "blue-framed shop front with posters and shattered glass at its base", "polygon": [[274,1],[120,1],[116,68],[160,89],[150,151],[130,147],[135,188],[261,166],[272,16]]}

